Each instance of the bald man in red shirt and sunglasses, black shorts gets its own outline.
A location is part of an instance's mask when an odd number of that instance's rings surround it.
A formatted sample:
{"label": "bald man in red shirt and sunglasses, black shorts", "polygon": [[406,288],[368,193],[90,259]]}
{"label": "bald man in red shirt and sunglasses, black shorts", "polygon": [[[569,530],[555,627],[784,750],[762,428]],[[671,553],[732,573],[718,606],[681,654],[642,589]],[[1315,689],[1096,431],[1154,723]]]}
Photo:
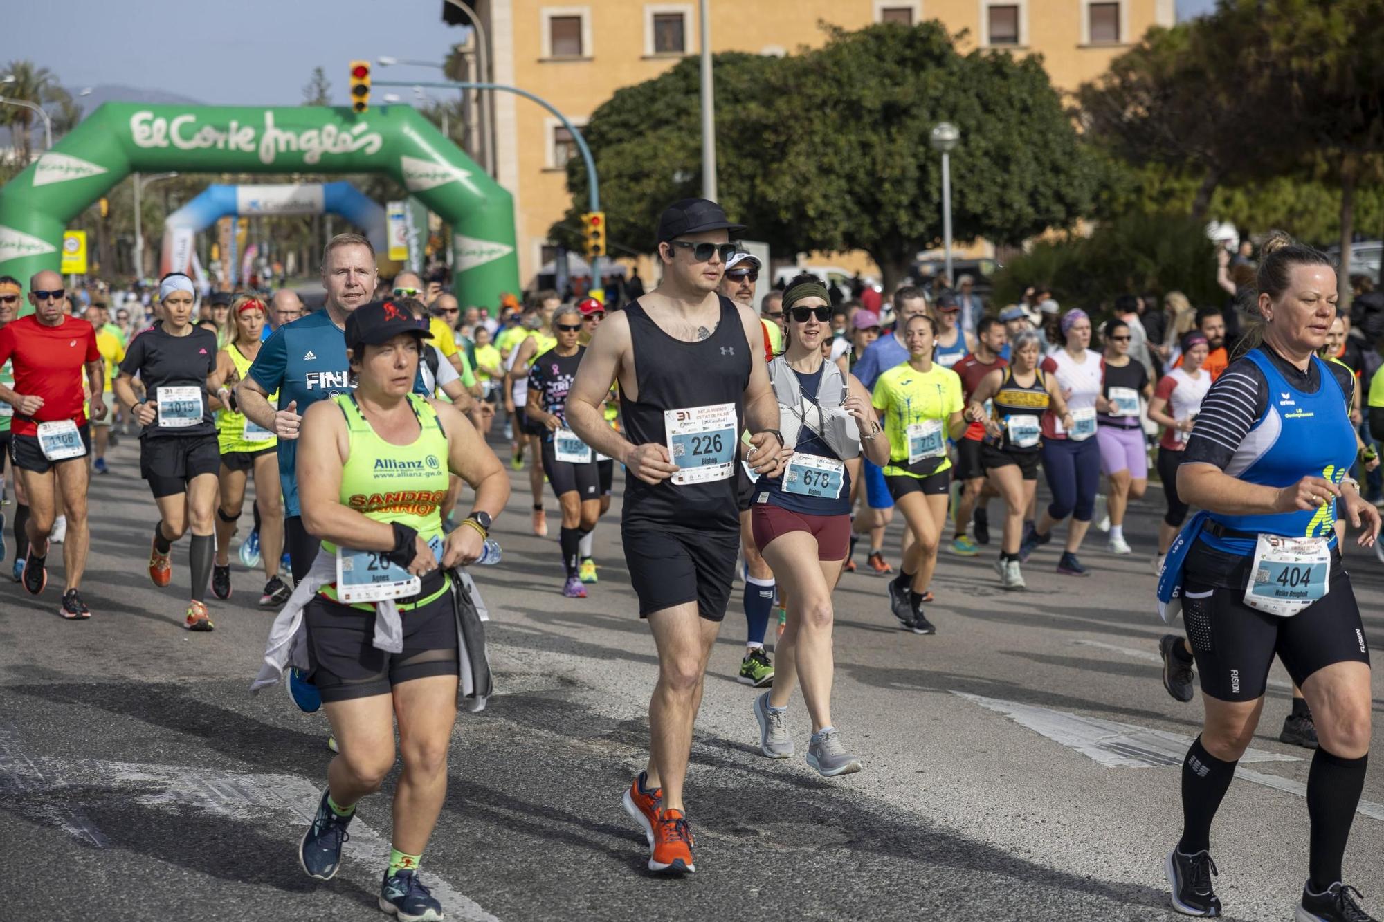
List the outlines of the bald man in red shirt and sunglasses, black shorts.
{"label": "bald man in red shirt and sunglasses, black shorts", "polygon": [[91,541],[86,500],[91,432],[83,408],[82,372],[86,371],[91,413],[97,417],[105,414],[101,400],[105,378],[95,329],[84,320],[65,316],[65,299],[58,273],[42,271],[29,280],[35,313],[0,329],[0,365],[10,361],[14,367],[14,388],[0,385],[0,400],[14,407],[10,451],[29,497],[24,588],[39,595],[48,583],[48,534],[61,491],[68,536],[62,545],[65,586],[58,613],[78,619],[91,616],[78,593]]}

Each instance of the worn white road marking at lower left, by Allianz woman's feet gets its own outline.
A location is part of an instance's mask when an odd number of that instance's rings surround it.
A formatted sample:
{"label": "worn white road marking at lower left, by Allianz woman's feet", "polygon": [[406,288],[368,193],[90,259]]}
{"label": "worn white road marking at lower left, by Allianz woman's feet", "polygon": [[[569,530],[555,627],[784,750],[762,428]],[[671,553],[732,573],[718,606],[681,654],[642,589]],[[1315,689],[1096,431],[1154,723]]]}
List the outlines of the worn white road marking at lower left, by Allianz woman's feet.
{"label": "worn white road marking at lower left, by Allianz woman's feet", "polygon": [[[187,766],[138,764],[98,759],[32,759],[15,745],[17,734],[0,725],[0,803],[7,796],[26,793],[62,793],[65,789],[100,789],[118,793],[134,803],[169,810],[198,810],[237,822],[271,820],[292,829],[285,836],[285,856],[296,847],[298,836],[313,821],[321,788],[296,775],[215,771]],[[80,808],[43,804],[30,815],[54,825],[73,839],[98,849],[111,844]],[[116,846],[119,846],[116,836]],[[356,879],[368,889],[379,887],[379,874],[389,864],[390,843],[360,818],[352,822],[350,840],[343,851],[342,876]],[[285,860],[293,860],[296,857]],[[448,919],[464,922],[500,922],[471,897],[429,868],[429,889]]]}

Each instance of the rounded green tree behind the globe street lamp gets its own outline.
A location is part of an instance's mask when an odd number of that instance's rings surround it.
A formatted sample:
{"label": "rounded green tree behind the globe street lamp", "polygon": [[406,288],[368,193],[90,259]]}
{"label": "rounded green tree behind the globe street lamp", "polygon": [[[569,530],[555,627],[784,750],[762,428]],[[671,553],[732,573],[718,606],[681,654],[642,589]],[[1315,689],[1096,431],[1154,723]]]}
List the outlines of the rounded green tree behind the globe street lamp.
{"label": "rounded green tree behind the globe street lamp", "polygon": [[886,288],[940,238],[941,158],[934,125],[952,122],[958,239],[1019,244],[1091,206],[1092,169],[1038,57],[956,53],[937,22],[833,29],[822,48],[770,80],[767,205],[800,249],[864,249]]}

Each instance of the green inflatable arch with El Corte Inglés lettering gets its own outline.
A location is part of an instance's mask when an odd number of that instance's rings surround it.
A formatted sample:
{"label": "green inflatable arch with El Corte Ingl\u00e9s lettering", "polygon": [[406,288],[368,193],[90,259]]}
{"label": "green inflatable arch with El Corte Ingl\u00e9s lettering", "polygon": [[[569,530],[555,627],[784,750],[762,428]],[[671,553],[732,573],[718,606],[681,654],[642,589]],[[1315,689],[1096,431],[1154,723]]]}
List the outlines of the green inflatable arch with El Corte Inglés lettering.
{"label": "green inflatable arch with El Corte Ingl\u00e9s lettering", "polygon": [[107,102],[0,188],[0,274],[58,270],[68,222],[131,172],[386,173],[453,228],[462,305],[519,292],[513,199],[410,107]]}

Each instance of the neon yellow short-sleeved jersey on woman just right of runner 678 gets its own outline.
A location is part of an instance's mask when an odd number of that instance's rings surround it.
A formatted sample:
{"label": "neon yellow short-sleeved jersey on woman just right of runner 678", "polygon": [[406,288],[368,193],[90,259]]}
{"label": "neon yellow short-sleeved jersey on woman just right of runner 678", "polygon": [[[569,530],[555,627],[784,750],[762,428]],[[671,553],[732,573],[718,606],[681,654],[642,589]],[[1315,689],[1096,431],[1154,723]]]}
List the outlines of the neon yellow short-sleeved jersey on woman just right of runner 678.
{"label": "neon yellow short-sleeved jersey on woman just right of runner 678", "polygon": [[[889,436],[889,464],[886,476],[926,478],[951,468],[947,457],[947,421],[954,413],[960,413],[960,375],[936,363],[927,372],[918,371],[911,364],[895,365],[882,374],[875,382],[875,408],[884,417],[884,433]],[[941,431],[922,433],[912,426],[936,428]],[[911,443],[920,449],[927,444],[920,460],[911,461]],[[940,454],[937,454],[940,451]]]}

